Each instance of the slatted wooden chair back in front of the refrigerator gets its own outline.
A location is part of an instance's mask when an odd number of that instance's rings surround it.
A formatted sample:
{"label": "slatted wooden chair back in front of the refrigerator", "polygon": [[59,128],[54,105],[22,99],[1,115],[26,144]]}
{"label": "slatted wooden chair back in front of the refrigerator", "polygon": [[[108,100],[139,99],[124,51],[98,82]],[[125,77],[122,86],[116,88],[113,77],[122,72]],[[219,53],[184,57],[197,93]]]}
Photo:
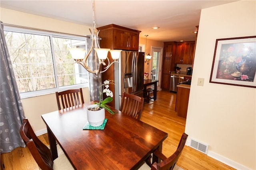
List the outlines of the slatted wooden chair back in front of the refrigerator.
{"label": "slatted wooden chair back in front of the refrigerator", "polygon": [[123,93],[120,111],[140,120],[144,98],[134,94]]}

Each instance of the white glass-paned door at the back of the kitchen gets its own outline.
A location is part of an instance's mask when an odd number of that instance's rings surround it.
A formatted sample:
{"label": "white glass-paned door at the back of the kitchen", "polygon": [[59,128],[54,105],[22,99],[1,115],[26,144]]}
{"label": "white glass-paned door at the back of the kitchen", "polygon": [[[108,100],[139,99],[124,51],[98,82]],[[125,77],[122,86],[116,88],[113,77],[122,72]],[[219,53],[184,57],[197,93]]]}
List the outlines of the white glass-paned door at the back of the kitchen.
{"label": "white glass-paned door at the back of the kitchen", "polygon": [[161,66],[161,56],[162,56],[162,48],[160,47],[152,47],[152,58],[151,58],[151,79],[158,80],[157,90],[159,90],[159,84],[161,82],[160,78],[160,66]]}

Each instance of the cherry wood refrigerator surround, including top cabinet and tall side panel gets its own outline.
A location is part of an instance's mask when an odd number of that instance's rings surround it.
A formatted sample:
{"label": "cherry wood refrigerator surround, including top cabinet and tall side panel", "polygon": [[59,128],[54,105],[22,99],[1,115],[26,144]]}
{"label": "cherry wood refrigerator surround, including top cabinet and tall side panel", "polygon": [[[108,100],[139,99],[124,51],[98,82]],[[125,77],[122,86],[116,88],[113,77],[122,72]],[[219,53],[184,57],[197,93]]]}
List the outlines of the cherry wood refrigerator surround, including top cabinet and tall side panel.
{"label": "cherry wood refrigerator surround, including top cabinet and tall side panel", "polygon": [[[108,49],[120,49],[126,51],[138,51],[139,50],[139,34],[141,31],[122,27],[115,24],[106,25],[103,27],[98,27],[101,48]],[[110,53],[108,53],[108,59],[110,63],[113,61]],[[105,60],[108,64],[108,61]],[[106,72],[101,73],[102,81],[104,80],[114,80],[114,64],[106,70]],[[109,89],[114,92],[114,86],[110,86]],[[118,100],[118,99],[117,99]],[[109,106],[115,107],[115,98],[113,96],[113,101],[108,103]]]}

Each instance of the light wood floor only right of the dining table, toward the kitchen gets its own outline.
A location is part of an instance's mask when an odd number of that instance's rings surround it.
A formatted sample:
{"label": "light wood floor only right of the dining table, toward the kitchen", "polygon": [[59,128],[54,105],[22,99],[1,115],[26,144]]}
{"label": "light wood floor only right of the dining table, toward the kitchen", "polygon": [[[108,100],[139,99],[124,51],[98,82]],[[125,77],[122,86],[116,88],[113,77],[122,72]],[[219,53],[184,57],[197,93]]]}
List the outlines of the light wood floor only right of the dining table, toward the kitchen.
{"label": "light wood floor only right of the dining table, toward the kitchen", "polygon": [[[168,133],[162,148],[162,153],[167,157],[177,149],[186,125],[186,119],[177,116],[175,103],[176,93],[158,91],[156,101],[149,104],[144,103],[140,119]],[[186,145],[177,164],[184,170],[234,170],[234,168]]]}

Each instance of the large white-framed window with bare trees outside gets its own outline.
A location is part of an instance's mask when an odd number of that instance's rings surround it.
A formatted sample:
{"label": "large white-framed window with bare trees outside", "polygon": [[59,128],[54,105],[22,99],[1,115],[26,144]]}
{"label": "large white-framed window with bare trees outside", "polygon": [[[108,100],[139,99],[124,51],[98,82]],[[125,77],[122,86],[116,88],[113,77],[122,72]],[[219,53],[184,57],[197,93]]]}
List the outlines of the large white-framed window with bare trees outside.
{"label": "large white-framed window with bare trees outside", "polygon": [[87,49],[86,37],[16,27],[4,34],[21,97],[88,86],[88,72],[68,51]]}

